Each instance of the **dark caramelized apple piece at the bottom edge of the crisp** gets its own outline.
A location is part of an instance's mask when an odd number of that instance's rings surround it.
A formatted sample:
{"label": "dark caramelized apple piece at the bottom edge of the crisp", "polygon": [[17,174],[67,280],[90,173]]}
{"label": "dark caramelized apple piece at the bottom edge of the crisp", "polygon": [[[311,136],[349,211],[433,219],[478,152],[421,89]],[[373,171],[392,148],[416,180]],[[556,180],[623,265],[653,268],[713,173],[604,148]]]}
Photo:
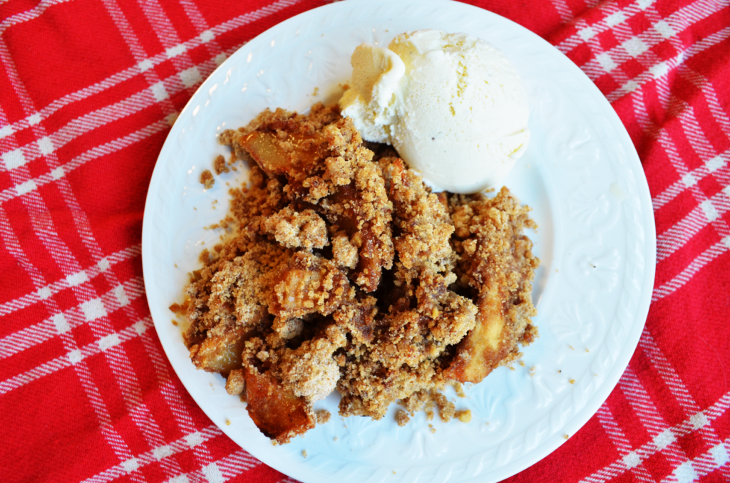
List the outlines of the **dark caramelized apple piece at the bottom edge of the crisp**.
{"label": "dark caramelized apple piece at the bottom edge of the crisp", "polygon": [[267,438],[279,444],[315,427],[315,414],[304,398],[283,387],[269,373],[261,374],[245,366],[247,411],[254,424]]}

